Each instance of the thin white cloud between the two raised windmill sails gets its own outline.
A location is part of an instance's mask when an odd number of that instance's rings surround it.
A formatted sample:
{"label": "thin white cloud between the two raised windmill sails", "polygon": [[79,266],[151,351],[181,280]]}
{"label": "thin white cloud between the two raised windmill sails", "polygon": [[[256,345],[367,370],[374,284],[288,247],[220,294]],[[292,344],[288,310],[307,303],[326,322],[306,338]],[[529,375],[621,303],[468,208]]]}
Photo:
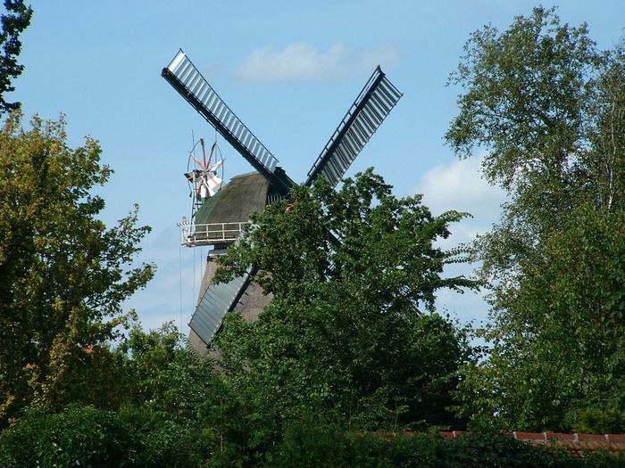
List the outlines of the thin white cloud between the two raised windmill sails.
{"label": "thin white cloud between the two raised windmill sails", "polygon": [[399,52],[392,46],[355,53],[345,45],[335,44],[328,51],[320,52],[312,44],[296,42],[281,50],[272,46],[256,49],[243,59],[237,74],[250,81],[328,81],[371,70],[378,64],[390,65],[397,60]]}

